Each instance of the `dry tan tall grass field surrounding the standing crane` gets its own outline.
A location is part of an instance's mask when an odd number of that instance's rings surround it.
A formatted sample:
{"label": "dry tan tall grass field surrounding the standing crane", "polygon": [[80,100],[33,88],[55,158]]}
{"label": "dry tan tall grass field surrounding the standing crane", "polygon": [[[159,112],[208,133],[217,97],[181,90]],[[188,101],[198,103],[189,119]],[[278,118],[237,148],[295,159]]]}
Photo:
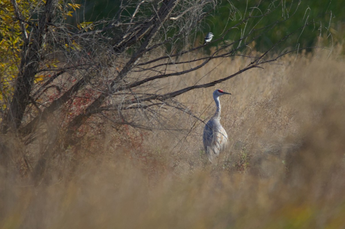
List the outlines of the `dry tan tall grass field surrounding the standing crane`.
{"label": "dry tan tall grass field surrounding the standing crane", "polygon": [[[217,60],[159,83],[190,86],[247,61]],[[303,54],[264,67],[217,86],[232,93],[220,99],[230,147],[218,165],[206,162],[204,124],[171,111],[188,135],[122,129],[128,137],[112,142],[109,129],[97,147],[58,155],[68,172],[37,186],[1,170],[0,228],[345,228],[344,57]],[[207,119],[215,88],[178,99]]]}

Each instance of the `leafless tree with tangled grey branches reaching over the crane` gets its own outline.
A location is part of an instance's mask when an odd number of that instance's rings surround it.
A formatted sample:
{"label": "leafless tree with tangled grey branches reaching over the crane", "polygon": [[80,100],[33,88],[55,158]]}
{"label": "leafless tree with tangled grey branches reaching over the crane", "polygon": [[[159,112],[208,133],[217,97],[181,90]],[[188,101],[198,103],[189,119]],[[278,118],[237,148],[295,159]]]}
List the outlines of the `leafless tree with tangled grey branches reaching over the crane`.
{"label": "leafless tree with tangled grey branches reaching over the crane", "polygon": [[[157,80],[183,76],[203,68],[212,59],[242,55],[240,51],[248,44],[289,20],[298,7],[298,3],[287,7],[282,6],[282,1],[272,1],[262,9],[258,1],[241,13],[229,2],[229,19],[224,30],[212,31],[217,36],[210,44],[203,45],[203,36],[210,32],[204,27],[207,17],[217,12],[219,3],[216,0],[121,1],[114,18],[90,24],[81,22],[77,27],[66,23],[64,12],[68,10],[64,7],[67,5],[57,0],[39,2],[31,10],[36,17],[29,19],[24,18],[12,0],[24,42],[18,76],[13,82],[15,90],[3,113],[2,133],[14,132],[27,143],[38,139],[39,134],[50,133],[51,143],[63,136],[63,148],[67,149],[78,142],[78,129],[94,116],[119,125],[157,128],[152,123],[165,122],[164,115],[158,112],[165,107],[193,115],[176,96],[214,86],[302,49],[297,46],[274,57],[270,54],[291,34],[300,33],[314,23],[306,16],[304,26],[282,36],[266,52],[247,55],[250,64],[218,80],[205,84],[195,81],[177,90],[157,87]],[[260,26],[260,19],[278,10],[282,11],[282,17]],[[234,34],[233,40],[225,40],[229,34]],[[217,42],[216,48],[207,51],[207,47]],[[190,67],[180,67],[185,64]],[[35,83],[38,78],[41,80]],[[129,111],[131,115],[126,115]],[[140,120],[135,118],[136,114],[140,114]],[[49,126],[51,120],[59,123],[58,128]],[[41,131],[35,131],[38,128]],[[45,152],[39,168],[44,167],[51,149]]]}

